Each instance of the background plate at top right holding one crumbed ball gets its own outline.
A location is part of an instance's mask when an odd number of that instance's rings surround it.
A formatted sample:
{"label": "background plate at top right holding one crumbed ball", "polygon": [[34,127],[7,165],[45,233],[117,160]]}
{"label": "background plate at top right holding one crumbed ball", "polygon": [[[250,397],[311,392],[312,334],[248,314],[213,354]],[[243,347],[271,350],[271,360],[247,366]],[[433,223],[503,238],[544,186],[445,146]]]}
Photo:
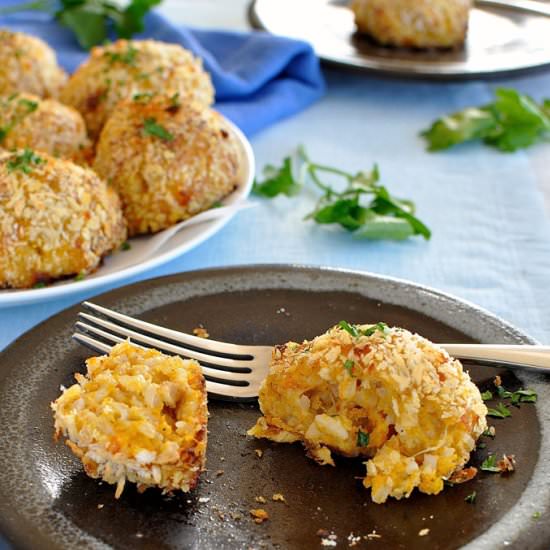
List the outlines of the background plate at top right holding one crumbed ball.
{"label": "background plate at top right holding one crumbed ball", "polygon": [[471,11],[464,49],[421,51],[379,46],[357,34],[348,4],[254,0],[250,14],[255,26],[310,42],[324,61],[396,76],[463,79],[550,65],[550,17],[480,3]]}

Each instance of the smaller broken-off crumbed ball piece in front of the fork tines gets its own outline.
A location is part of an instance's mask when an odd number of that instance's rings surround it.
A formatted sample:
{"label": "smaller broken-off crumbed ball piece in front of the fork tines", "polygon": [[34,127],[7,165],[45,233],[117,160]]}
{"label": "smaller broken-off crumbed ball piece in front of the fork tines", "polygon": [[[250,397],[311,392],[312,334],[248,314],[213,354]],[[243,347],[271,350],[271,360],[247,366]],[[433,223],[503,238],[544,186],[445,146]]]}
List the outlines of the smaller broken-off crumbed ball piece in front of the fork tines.
{"label": "smaller broken-off crumbed ball piece in front of the fork tines", "polygon": [[138,490],[190,491],[205,466],[207,408],[199,364],[129,342],[86,361],[52,403],[56,438],[93,478]]}

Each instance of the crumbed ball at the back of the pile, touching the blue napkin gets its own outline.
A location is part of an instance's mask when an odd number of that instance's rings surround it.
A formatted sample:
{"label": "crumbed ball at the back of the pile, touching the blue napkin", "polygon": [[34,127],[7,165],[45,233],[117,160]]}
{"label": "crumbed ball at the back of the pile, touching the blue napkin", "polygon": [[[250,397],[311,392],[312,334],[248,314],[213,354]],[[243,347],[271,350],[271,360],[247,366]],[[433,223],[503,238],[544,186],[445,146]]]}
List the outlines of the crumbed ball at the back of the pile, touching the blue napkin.
{"label": "crumbed ball at the back of the pile, touching the blue napkin", "polygon": [[211,105],[214,88],[202,63],[177,44],[118,40],[96,47],[71,76],[62,101],[79,110],[93,139],[117,103],[140,92],[179,93],[182,100]]}

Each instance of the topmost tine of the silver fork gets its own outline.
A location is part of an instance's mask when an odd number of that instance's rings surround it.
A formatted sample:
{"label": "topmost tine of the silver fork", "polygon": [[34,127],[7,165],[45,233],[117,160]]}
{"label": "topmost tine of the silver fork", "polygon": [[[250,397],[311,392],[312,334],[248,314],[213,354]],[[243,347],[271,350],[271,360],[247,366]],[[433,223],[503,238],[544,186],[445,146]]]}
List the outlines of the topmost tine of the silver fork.
{"label": "topmost tine of the silver fork", "polygon": [[184,345],[192,346],[194,348],[199,348],[214,353],[226,353],[229,355],[238,356],[240,358],[245,358],[248,355],[254,353],[254,346],[240,346],[236,344],[228,344],[227,342],[218,342],[216,340],[199,338],[198,336],[193,336],[191,334],[186,334],[177,330],[159,327],[152,323],[141,321],[140,319],[128,317],[127,315],[123,315],[122,313],[118,313],[117,311],[113,311],[112,309],[93,304],[92,302],[83,302],[82,305],[87,309],[102,314],[108,319],[120,321],[125,325],[146,331],[156,336],[169,338],[170,340],[174,340],[176,342],[180,342]]}

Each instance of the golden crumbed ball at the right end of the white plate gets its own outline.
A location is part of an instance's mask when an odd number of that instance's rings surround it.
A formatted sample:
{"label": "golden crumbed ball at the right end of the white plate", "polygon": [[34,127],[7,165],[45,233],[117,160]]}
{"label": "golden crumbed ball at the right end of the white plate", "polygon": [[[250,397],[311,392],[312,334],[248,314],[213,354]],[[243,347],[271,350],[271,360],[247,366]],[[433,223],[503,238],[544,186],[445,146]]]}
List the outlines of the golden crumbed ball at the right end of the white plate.
{"label": "golden crumbed ball at the right end of the white plate", "polygon": [[224,119],[178,96],[120,103],[101,132],[94,170],[118,191],[130,236],[211,207],[238,182],[239,144]]}

